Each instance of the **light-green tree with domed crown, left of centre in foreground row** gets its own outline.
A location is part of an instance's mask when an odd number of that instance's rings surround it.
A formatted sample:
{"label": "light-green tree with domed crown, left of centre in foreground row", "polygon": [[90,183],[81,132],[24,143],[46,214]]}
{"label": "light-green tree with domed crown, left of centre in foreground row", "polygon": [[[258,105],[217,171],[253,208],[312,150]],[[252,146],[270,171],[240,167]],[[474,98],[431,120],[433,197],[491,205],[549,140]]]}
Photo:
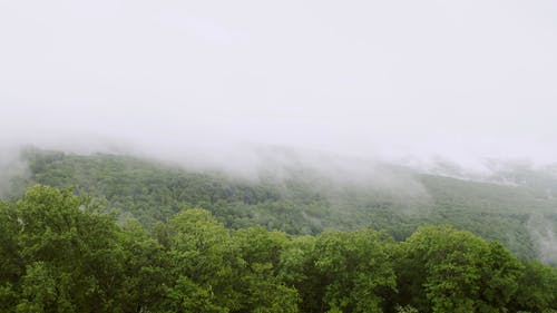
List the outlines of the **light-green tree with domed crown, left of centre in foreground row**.
{"label": "light-green tree with domed crown, left of centre in foreground row", "polygon": [[209,212],[198,208],[184,209],[169,225],[174,282],[167,290],[168,310],[225,312],[238,307],[240,295],[231,285],[236,255],[228,231]]}

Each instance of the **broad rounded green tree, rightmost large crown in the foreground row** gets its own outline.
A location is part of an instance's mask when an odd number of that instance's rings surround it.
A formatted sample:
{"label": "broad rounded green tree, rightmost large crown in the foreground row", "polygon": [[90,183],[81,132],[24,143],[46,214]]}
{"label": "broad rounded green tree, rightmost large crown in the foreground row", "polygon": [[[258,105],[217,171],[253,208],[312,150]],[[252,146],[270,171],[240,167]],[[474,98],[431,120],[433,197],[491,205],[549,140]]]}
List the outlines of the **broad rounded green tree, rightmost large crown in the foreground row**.
{"label": "broad rounded green tree, rightmost large crown in the foreground row", "polygon": [[422,227],[401,247],[401,294],[420,312],[501,312],[522,271],[500,244],[451,227]]}

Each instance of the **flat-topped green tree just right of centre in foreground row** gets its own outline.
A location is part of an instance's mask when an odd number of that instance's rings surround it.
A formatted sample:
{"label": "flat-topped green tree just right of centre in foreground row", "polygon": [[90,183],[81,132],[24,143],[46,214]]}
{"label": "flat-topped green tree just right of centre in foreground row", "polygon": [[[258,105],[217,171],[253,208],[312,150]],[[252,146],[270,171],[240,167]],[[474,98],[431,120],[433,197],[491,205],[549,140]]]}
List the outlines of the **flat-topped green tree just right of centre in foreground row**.
{"label": "flat-topped green tree just right of centre in foreground row", "polygon": [[388,245],[373,231],[317,236],[314,263],[330,312],[382,312],[382,294],[395,291]]}

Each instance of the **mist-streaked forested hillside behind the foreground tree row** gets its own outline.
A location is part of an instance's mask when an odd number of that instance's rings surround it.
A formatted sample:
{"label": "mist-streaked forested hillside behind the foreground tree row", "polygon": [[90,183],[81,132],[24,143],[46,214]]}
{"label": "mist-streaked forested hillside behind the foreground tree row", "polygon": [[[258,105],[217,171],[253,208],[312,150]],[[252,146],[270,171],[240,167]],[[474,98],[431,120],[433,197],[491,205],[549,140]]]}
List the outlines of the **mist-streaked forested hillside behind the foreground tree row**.
{"label": "mist-streaked forested hillside behind the foreground tree row", "polygon": [[207,209],[228,228],[261,225],[295,235],[371,227],[403,241],[420,225],[448,224],[497,239],[520,257],[557,261],[540,254],[557,221],[557,199],[547,186],[480,183],[394,166],[377,170],[383,179],[397,177],[397,186],[385,187],[335,180],[303,166],[289,167],[280,177],[262,170],[247,179],[128,156],[27,149],[22,158],[29,173],[13,179],[12,195],[33,184],[71,187],[148,229],[184,207]]}

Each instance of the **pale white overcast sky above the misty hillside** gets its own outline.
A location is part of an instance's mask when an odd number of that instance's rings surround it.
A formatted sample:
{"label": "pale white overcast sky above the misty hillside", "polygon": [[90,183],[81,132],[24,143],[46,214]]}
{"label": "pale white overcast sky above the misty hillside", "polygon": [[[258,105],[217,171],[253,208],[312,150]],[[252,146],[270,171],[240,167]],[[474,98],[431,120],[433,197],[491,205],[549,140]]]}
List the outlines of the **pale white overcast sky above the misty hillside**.
{"label": "pale white overcast sky above the misty hillside", "polygon": [[77,139],[557,160],[557,1],[0,0],[0,143]]}

